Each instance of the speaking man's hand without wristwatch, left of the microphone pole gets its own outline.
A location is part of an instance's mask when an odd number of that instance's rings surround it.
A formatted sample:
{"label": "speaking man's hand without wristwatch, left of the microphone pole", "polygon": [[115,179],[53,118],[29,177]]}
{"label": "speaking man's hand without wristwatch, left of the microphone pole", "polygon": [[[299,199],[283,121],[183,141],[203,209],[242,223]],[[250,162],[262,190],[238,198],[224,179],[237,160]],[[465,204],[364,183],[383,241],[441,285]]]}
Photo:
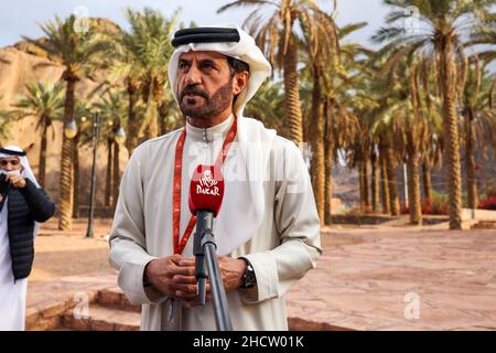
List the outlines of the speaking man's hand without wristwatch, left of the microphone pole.
{"label": "speaking man's hand without wristwatch, left of the microphone pole", "polygon": [[[198,287],[195,279],[194,257],[187,258],[175,254],[153,259],[144,268],[144,276],[165,296],[180,299],[188,307],[196,303]],[[209,291],[209,288],[207,290]]]}

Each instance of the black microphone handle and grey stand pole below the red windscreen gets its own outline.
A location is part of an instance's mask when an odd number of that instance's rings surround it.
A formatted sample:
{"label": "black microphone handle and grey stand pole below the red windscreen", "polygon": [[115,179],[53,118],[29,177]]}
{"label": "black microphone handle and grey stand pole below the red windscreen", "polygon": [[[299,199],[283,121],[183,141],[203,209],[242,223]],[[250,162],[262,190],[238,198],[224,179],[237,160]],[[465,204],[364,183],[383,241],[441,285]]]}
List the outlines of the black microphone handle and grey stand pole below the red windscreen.
{"label": "black microphone handle and grey stand pole below the red windscreen", "polygon": [[[198,282],[198,296],[202,306],[205,306],[206,278],[205,260],[211,279],[212,299],[214,301],[215,322],[218,331],[233,331],[233,324],[228,314],[226,289],[217,261],[217,245],[212,232],[213,215],[211,211],[198,210],[196,212],[196,233],[194,237],[193,253],[196,256],[195,277]],[[203,232],[202,232],[203,231]],[[201,234],[198,234],[202,232]]]}

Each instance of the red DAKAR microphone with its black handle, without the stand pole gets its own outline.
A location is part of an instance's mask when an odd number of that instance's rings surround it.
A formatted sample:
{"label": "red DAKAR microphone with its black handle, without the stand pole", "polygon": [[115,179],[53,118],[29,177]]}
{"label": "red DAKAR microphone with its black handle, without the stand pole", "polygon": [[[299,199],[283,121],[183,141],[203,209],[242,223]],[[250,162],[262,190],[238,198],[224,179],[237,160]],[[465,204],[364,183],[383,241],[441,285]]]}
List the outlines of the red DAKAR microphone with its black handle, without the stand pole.
{"label": "red DAKAR microphone with its black handle, without the stand pole", "polygon": [[[214,243],[213,223],[214,217],[220,211],[224,197],[224,179],[220,168],[215,165],[196,167],[190,184],[188,205],[192,214],[196,216],[196,232],[194,235],[193,254],[195,256],[195,278],[198,284],[198,296],[202,306],[206,300],[206,279],[207,272],[205,267],[205,245],[212,244],[214,252],[216,246]],[[217,268],[218,269],[218,268]],[[212,271],[216,271],[215,268]],[[212,277],[220,276],[212,274]]]}

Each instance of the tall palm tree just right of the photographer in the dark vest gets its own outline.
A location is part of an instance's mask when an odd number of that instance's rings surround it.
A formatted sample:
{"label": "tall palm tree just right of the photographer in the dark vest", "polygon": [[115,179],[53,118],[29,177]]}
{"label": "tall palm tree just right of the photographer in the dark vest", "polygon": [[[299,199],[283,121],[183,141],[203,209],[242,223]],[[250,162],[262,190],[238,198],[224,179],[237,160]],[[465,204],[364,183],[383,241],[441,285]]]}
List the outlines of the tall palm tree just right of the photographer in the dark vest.
{"label": "tall palm tree just right of the photographer in the dark vest", "polygon": [[[108,49],[108,44],[101,41],[96,26],[90,22],[87,31],[78,31],[75,15],[65,20],[55,17],[55,22],[48,21],[41,25],[46,35],[46,41],[36,41],[24,38],[26,41],[45,51],[51,57],[64,66],[62,79],[66,83],[64,125],[74,119],[75,88],[76,84],[87,75],[90,75],[103,64],[101,53]],[[73,165],[74,142],[64,133],[61,153],[61,205],[58,228],[68,231],[72,228],[73,213]]]}

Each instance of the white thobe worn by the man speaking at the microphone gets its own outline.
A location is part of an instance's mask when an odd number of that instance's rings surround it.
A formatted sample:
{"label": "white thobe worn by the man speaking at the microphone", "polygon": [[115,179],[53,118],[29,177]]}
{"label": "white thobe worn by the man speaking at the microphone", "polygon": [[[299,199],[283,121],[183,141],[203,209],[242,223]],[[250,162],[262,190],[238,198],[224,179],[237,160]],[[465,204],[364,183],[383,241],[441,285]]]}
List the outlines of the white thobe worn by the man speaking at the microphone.
{"label": "white thobe worn by the man speaking at the microphone", "polygon": [[[242,119],[248,119],[247,124],[258,124],[249,118]],[[208,129],[186,124],[180,236],[191,216],[187,196],[193,170],[200,162],[213,164],[233,120],[230,117]],[[142,304],[142,330],[216,329],[212,302],[188,309],[177,300],[171,301],[153,289],[143,288],[145,265],[154,258],[173,254],[172,234],[164,234],[163,229],[166,222],[172,222],[172,214],[164,210],[172,203],[173,161],[180,135],[181,130],[172,131],[142,143],[133,151],[122,175],[110,233],[110,263],[119,270],[119,286],[131,302]],[[217,139],[220,143],[212,142]],[[257,277],[256,287],[227,292],[235,330],[287,330],[285,292],[315,267],[321,253],[320,221],[300,150],[293,142],[276,137],[270,153],[271,162],[263,171],[267,175],[276,174],[278,161],[279,168],[289,169],[284,170],[285,175],[302,173],[304,178],[300,185],[266,178],[263,220],[251,239],[229,254],[248,258]],[[282,158],[288,154],[298,162],[285,163]],[[303,192],[290,192],[290,188]],[[222,207],[229,208],[229,205],[223,203]],[[250,204],[246,204],[247,212],[249,208]],[[194,231],[184,256],[193,255],[193,234]]]}

